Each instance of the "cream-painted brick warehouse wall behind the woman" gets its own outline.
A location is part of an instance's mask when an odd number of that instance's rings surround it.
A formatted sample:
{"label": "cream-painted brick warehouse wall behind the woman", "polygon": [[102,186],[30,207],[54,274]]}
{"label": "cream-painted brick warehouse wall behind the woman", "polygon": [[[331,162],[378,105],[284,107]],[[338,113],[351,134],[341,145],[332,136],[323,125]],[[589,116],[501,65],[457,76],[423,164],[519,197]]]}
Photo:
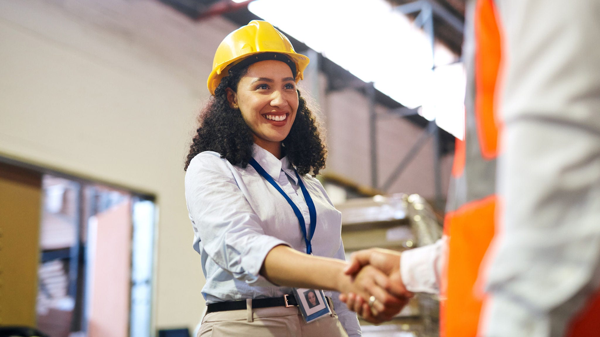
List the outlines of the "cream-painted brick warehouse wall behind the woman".
{"label": "cream-painted brick warehouse wall behind the woman", "polygon": [[[203,309],[183,163],[214,51],[235,28],[157,0],[0,1],[0,155],[157,196],[157,328],[193,327]],[[368,185],[366,98],[336,92],[322,110],[329,170]],[[383,181],[422,130],[379,127]],[[433,196],[431,157],[429,145],[392,191]]]}

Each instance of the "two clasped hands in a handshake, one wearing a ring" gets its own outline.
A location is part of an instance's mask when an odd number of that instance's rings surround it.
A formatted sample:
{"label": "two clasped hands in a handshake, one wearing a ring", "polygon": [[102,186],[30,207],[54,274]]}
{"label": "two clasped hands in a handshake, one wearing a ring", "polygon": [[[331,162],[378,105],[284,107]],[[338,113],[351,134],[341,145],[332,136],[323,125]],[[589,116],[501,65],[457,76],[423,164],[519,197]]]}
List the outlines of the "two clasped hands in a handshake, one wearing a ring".
{"label": "two clasped hands in a handshake, one wearing a ring", "polygon": [[371,323],[389,321],[408,303],[400,252],[371,248],[352,254],[340,282],[340,300]]}

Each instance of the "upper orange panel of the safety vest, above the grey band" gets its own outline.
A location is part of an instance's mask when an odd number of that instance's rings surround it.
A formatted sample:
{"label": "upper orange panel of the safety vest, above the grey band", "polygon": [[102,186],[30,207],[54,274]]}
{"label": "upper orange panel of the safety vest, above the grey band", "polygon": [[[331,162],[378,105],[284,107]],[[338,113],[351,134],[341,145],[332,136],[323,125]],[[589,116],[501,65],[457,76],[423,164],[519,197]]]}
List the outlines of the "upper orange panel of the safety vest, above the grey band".
{"label": "upper orange panel of the safety vest, above the grey band", "polygon": [[500,68],[501,47],[494,1],[478,1],[475,7],[475,119],[481,155],[488,160],[497,156],[494,90]]}

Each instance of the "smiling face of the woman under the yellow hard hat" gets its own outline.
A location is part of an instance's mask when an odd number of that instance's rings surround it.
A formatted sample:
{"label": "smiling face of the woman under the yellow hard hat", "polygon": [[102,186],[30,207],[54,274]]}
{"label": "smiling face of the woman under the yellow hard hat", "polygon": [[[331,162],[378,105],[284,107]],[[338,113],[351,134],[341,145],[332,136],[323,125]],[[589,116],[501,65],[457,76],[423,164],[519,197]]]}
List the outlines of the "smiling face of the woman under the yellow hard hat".
{"label": "smiling face of the woman under the yellow hard hat", "polygon": [[227,100],[241,111],[254,143],[280,158],[281,141],[290,133],[298,110],[290,67],[275,60],[251,64],[239,80],[237,92],[227,89]]}

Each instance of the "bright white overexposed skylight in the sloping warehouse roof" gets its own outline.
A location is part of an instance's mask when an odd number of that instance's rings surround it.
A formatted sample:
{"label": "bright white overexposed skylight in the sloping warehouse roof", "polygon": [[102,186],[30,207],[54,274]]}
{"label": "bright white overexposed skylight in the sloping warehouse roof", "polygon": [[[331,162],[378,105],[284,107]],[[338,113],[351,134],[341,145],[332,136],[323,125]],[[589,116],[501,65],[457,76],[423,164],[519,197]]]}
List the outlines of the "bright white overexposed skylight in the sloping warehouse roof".
{"label": "bright white overexposed skylight in the sloping warehouse roof", "polygon": [[[351,3],[351,5],[349,5]],[[256,0],[248,9],[404,106],[462,138],[464,71],[384,0]]]}

